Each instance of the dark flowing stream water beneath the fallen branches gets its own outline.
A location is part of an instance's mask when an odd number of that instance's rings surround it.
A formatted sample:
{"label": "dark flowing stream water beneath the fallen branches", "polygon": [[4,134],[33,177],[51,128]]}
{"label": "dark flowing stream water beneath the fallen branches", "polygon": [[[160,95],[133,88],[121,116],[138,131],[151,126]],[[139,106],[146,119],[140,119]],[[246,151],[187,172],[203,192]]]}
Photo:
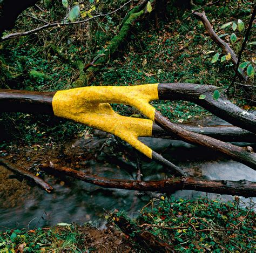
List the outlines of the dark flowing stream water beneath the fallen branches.
{"label": "dark flowing stream water beneath the fallen branches", "polygon": [[[199,122],[196,122],[199,124]],[[219,119],[209,118],[203,124],[223,124]],[[256,172],[239,162],[227,160],[220,154],[208,152],[205,148],[195,147],[183,141],[142,138],[146,145],[154,151],[161,153],[166,159],[186,168],[186,172],[193,176],[208,179],[255,181]],[[98,176],[106,176],[116,179],[134,179],[136,177],[136,157],[131,149],[129,159],[123,155],[123,151],[115,146],[112,136],[95,136],[89,139],[76,139],[66,143],[63,154],[70,153],[79,155],[83,153],[95,153],[93,159],[78,160],[77,167],[87,173]],[[124,149],[129,149],[126,146]],[[255,148],[255,146],[254,146]],[[99,152],[100,150],[100,152]],[[254,149],[255,150],[255,149]],[[142,159],[142,174],[144,180],[164,179],[168,174],[163,166],[149,159]],[[2,168],[3,169],[3,168]],[[1,167],[0,167],[1,173]],[[120,189],[104,189],[82,181],[62,177],[58,181],[49,177],[47,179],[55,188],[52,194],[45,193],[38,187],[19,195],[18,203],[6,206],[11,201],[9,196],[0,199],[0,229],[6,228],[29,228],[44,227],[59,222],[76,222],[83,224],[91,222],[99,228],[104,228],[104,216],[114,209],[125,210],[131,216],[137,215],[140,208],[152,199],[149,193]],[[1,183],[1,182],[0,182]],[[3,183],[3,182],[2,182]],[[8,188],[8,180],[5,180]],[[180,190],[173,194],[174,197],[192,199],[206,193],[193,190]],[[232,200],[229,195],[207,194],[210,198],[218,198],[223,201]],[[246,199],[245,201],[250,201]],[[254,199],[255,201],[255,199]],[[5,203],[5,204],[4,204]]]}

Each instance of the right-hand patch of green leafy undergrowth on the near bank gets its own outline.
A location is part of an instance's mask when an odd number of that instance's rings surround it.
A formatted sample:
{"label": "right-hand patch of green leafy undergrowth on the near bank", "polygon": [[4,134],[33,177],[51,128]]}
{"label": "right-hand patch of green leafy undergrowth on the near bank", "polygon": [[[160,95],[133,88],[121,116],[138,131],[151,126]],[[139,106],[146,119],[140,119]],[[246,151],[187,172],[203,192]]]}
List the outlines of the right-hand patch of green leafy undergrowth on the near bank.
{"label": "right-hand patch of green leafy undergrowth on the near bank", "polygon": [[[123,216],[117,214],[117,217]],[[125,216],[127,218],[127,216]],[[179,252],[252,252],[255,250],[255,213],[250,203],[207,198],[151,201],[131,223],[131,238],[147,231]]]}

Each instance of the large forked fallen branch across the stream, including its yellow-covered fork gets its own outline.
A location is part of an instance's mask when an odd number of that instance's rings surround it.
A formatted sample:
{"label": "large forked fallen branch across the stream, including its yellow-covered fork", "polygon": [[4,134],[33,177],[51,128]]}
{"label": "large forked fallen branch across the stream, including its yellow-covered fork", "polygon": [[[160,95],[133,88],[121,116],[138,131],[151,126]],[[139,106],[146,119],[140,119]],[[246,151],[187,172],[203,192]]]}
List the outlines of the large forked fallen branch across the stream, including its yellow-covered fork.
{"label": "large forked fallen branch across the stream, including its yellow-covered fork", "polygon": [[[37,106],[42,106],[40,103],[46,102],[48,110],[53,110],[58,117],[72,119],[112,133],[130,143],[149,158],[159,161],[180,175],[185,175],[180,168],[153,152],[152,149],[138,140],[139,136],[152,135],[152,121],[120,116],[106,102],[127,104],[136,107],[148,118],[154,119],[158,125],[171,131],[181,140],[219,151],[256,169],[256,155],[251,147],[238,147],[206,135],[187,131],[165,119],[148,104],[150,100],[154,99],[193,101],[220,118],[255,132],[256,116],[241,110],[222,95],[218,100],[213,99],[212,94],[216,88],[196,84],[151,84],[131,87],[100,86],[58,91],[56,94],[25,92],[24,97],[18,91],[5,90],[0,93],[0,105],[2,105],[2,108],[11,108],[14,102],[17,111],[21,110],[22,105],[26,105],[28,102],[35,103]],[[205,99],[200,99],[200,94],[205,94]],[[51,105],[53,98],[55,109],[52,109]]]}

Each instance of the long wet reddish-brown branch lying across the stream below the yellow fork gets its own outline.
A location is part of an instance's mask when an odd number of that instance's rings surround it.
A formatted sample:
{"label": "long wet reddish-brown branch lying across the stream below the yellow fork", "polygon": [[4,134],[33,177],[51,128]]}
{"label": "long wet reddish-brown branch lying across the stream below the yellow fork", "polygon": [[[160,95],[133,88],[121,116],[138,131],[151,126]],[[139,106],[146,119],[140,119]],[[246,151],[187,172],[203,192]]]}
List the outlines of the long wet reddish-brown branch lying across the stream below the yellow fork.
{"label": "long wet reddish-brown branch lying across the stream below the yellow fork", "polygon": [[75,169],[61,167],[58,165],[39,166],[42,170],[48,172],[59,172],[75,179],[82,180],[87,183],[92,183],[103,188],[115,188],[126,190],[139,190],[149,192],[173,193],[177,190],[198,190],[207,193],[239,195],[245,197],[256,196],[256,183],[240,180],[205,180],[196,179],[193,177],[182,177],[176,179],[166,179],[160,181],[140,181],[140,180],[119,180],[107,179],[95,175],[88,175]]}

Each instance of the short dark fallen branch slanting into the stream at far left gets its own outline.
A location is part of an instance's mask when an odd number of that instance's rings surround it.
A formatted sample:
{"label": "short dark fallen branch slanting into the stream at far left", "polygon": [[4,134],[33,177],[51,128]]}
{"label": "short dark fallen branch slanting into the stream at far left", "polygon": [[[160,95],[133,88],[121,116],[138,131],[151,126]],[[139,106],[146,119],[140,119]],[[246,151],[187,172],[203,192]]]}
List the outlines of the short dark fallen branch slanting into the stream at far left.
{"label": "short dark fallen branch slanting into the stream at far left", "polygon": [[35,182],[41,188],[46,190],[46,192],[50,193],[52,191],[52,187],[50,186],[50,184],[46,183],[43,179],[41,179],[40,177],[34,175],[31,172],[28,172],[28,171],[22,169],[21,167],[18,167],[14,163],[11,163],[8,160],[6,160],[5,158],[0,157],[0,165],[3,165],[7,169],[10,169],[12,172],[14,172],[16,174],[19,174],[19,175],[22,175],[26,179],[29,179],[29,180]]}

